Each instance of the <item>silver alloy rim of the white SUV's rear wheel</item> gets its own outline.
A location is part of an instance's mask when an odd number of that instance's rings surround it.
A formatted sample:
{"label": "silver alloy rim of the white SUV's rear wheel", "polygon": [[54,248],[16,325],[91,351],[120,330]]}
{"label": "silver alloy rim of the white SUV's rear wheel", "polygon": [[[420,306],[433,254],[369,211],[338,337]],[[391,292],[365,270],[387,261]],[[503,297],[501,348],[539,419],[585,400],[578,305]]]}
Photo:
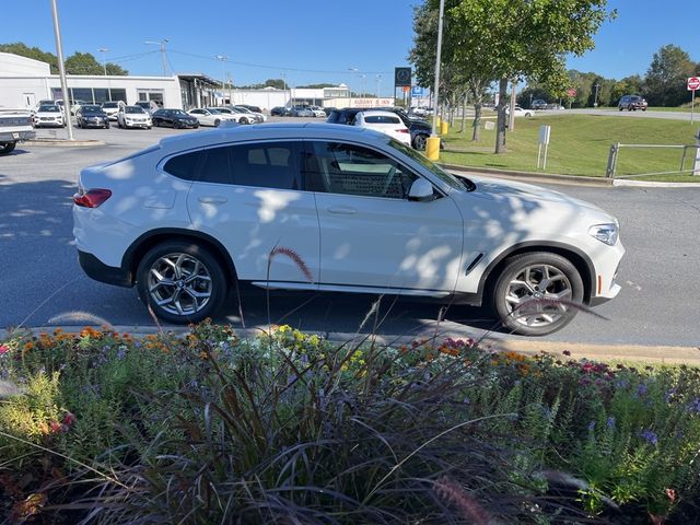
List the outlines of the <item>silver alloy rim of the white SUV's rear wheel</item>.
{"label": "silver alloy rim of the white SUV's rear wheel", "polygon": [[151,301],[168,314],[189,316],[200,312],[213,290],[207,267],[188,254],[167,254],[149,269]]}

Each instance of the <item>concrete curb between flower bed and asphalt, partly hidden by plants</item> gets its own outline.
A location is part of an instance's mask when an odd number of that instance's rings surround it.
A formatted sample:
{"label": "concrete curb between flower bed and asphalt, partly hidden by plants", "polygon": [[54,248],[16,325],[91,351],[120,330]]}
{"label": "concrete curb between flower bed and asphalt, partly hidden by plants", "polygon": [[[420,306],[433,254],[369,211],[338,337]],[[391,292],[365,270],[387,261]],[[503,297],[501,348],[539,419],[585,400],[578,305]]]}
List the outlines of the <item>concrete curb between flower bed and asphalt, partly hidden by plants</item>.
{"label": "concrete curb between flower bed and asphalt, partly hidden by plants", "polygon": [[[93,326],[94,327],[94,326]],[[37,326],[27,328],[32,334],[51,334],[57,328],[65,332],[77,334],[83,326]],[[94,327],[97,328],[97,327]],[[119,334],[129,332],[135,338],[159,334],[161,330],[155,326],[109,326],[109,329]],[[235,332],[243,338],[249,338],[265,334],[267,325],[258,325],[253,328],[235,329]],[[189,332],[187,327],[166,327],[163,331],[184,336]],[[328,331],[305,331],[305,334],[317,335],[332,342],[374,340],[378,345],[410,345],[416,339],[425,339],[428,336],[405,336],[405,335],[381,335],[371,334],[348,334]],[[10,330],[0,330],[0,341],[8,339]],[[450,337],[450,334],[440,334],[438,340]],[[464,336],[460,336],[464,337]],[[591,359],[596,361],[626,361],[641,362],[650,364],[688,364],[700,366],[700,347],[670,347],[670,346],[642,346],[642,345],[593,345],[581,342],[546,341],[532,339],[503,339],[485,338],[480,341],[483,348],[492,350],[515,351],[528,355],[536,355],[546,352],[562,359]],[[563,351],[571,352],[570,357],[564,357]]]}

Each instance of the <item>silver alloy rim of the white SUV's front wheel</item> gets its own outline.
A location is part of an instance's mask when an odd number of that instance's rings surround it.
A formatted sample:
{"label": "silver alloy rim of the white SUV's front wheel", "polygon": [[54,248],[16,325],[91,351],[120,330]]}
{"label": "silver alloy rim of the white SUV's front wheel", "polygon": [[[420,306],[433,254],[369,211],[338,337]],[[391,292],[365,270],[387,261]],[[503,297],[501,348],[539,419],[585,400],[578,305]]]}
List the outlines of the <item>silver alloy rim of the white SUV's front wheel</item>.
{"label": "silver alloy rim of the white SUV's front wheel", "polygon": [[530,265],[509,282],[505,304],[516,323],[537,328],[560,320],[572,296],[571,281],[563,271],[551,265]]}

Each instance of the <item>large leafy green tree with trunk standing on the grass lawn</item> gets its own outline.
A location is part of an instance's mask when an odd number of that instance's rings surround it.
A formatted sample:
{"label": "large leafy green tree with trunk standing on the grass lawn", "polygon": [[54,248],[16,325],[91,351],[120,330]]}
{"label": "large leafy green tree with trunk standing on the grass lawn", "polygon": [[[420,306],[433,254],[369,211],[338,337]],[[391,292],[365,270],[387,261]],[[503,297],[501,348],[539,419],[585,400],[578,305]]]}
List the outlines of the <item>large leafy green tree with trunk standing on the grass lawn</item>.
{"label": "large leafy green tree with trunk standing on the grass lawn", "polygon": [[[427,0],[431,7],[438,0]],[[529,78],[562,90],[567,83],[567,54],[582,55],[594,47],[593,35],[615,15],[607,0],[451,0],[446,33],[458,34],[452,58],[466,66],[481,57],[483,75],[499,80],[500,103],[495,152],[505,151],[505,107],[510,80]],[[447,60],[447,57],[445,61]]]}

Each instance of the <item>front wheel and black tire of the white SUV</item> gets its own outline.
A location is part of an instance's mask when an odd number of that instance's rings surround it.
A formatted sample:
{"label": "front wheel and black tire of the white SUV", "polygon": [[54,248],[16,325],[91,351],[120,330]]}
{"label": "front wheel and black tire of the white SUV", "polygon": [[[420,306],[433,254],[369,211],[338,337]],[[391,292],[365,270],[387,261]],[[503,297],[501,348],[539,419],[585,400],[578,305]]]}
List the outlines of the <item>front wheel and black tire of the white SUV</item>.
{"label": "front wheel and black tire of the white SUV", "polygon": [[[542,289],[539,285],[545,281]],[[573,319],[578,311],[565,303],[581,304],[583,294],[581,275],[569,259],[548,252],[534,252],[506,260],[493,283],[490,299],[505,328],[523,336],[546,336]],[[558,303],[558,298],[562,302]],[[535,310],[528,308],[527,303],[538,299],[541,301],[532,305]]]}

